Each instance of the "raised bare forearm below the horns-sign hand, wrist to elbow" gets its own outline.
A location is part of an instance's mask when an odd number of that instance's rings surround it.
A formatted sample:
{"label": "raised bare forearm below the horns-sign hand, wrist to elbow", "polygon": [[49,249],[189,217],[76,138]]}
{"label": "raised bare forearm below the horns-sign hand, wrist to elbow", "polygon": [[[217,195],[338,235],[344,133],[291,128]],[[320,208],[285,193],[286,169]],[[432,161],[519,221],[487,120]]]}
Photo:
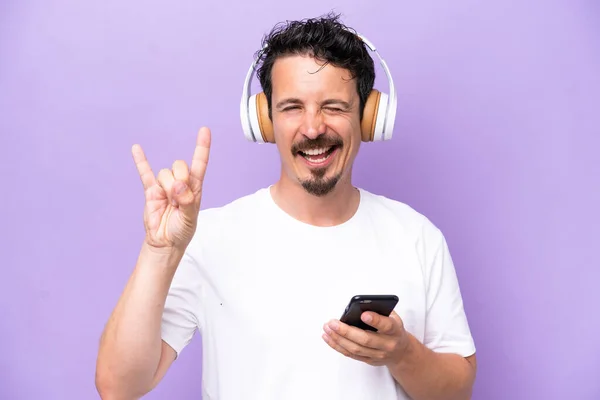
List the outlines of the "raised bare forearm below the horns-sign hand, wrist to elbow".
{"label": "raised bare forearm below the horns-sign hand, wrist to elbow", "polygon": [[151,386],[161,357],[162,312],[181,255],[142,247],[100,340],[96,385],[108,397],[138,398]]}

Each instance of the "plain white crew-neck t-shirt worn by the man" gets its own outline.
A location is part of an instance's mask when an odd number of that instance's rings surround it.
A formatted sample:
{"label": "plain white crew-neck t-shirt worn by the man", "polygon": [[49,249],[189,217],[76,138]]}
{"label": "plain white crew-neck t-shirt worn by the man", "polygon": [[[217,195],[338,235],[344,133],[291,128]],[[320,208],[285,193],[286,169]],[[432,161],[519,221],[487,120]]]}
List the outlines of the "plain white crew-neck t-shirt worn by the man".
{"label": "plain white crew-neck t-shirt worn by the man", "polygon": [[357,294],[395,294],[405,328],[427,347],[475,353],[442,233],[403,203],[360,196],[334,227],[292,218],[269,188],[200,212],[162,338],[179,354],[200,332],[204,400],[407,399],[386,367],[321,337]]}

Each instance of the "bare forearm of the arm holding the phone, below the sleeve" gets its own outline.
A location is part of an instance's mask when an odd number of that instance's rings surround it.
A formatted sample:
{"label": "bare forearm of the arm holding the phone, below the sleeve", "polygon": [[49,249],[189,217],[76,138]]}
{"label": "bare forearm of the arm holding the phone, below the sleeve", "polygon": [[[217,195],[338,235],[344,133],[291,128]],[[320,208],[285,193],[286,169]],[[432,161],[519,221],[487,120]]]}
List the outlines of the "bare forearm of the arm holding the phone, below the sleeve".
{"label": "bare forearm of the arm holding the phone, below the sleeve", "polygon": [[402,360],[389,369],[414,400],[471,398],[475,366],[458,354],[436,353],[410,334]]}

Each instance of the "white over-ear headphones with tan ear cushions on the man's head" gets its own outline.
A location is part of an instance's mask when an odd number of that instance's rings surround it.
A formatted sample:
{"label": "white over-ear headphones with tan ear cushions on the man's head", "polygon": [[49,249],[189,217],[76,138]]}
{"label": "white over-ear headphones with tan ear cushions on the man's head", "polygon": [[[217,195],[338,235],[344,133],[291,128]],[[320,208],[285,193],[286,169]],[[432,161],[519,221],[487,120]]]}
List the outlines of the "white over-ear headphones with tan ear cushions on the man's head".
{"label": "white over-ear headphones with tan ear cushions on the man's head", "polygon": [[[380,93],[380,97],[377,97],[377,99],[374,100],[376,101],[376,104],[374,105],[375,115],[373,116],[372,120],[373,132],[370,140],[390,140],[394,130],[394,122],[396,119],[396,110],[398,104],[394,80],[387,63],[383,57],[381,57],[375,45],[360,33],[356,33],[356,35],[369,48],[369,50],[377,55],[389,84],[389,95]],[[262,50],[266,48],[267,44],[265,43],[262,47]],[[262,132],[262,125],[264,125],[264,121],[261,123],[261,113],[264,113],[265,110],[261,110],[259,98],[256,97],[257,95],[250,96],[252,78],[258,60],[259,57],[252,62],[246,74],[246,79],[242,88],[242,98],[240,101],[240,120],[242,122],[242,128],[247,140],[257,143],[266,143],[270,141],[265,140],[265,133]],[[383,102],[381,102],[381,100],[383,100]],[[262,119],[264,119],[264,117]]]}

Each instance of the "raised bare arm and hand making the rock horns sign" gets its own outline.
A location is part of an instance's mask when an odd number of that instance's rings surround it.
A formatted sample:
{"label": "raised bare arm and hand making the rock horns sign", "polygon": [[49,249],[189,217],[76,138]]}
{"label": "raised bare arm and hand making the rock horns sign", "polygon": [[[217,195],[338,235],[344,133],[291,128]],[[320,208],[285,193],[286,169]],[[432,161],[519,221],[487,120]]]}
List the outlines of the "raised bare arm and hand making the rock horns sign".
{"label": "raised bare arm and hand making the rock horns sign", "polygon": [[100,339],[95,382],[104,400],[141,398],[175,360],[175,351],[161,339],[161,317],[177,266],[196,230],[210,142],[208,128],[200,129],[191,166],[177,160],[157,175],[141,146],[132,148],[146,198],[146,237]]}

